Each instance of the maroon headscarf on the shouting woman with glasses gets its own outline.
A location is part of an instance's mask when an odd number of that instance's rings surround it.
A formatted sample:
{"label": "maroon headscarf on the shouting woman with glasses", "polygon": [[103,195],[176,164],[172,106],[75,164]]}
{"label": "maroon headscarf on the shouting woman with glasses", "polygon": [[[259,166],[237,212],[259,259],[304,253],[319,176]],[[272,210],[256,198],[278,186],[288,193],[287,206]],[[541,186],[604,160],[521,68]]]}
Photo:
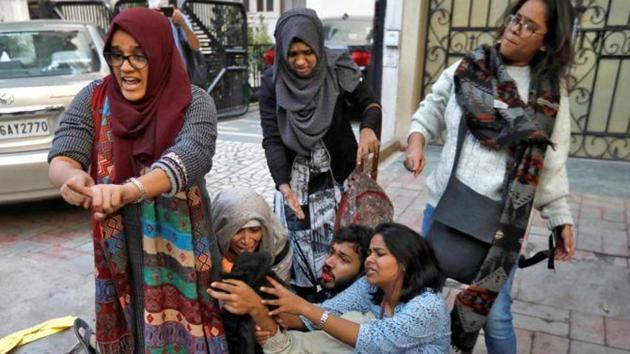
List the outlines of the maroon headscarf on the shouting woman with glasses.
{"label": "maroon headscarf on the shouting woman with glasses", "polygon": [[141,164],[151,164],[173,145],[192,92],[166,16],[146,8],[121,12],[112,21],[104,51],[110,50],[117,30],[131,35],[149,60],[147,91],[141,100],[128,101],[113,74],[103,83],[112,114],[113,182],[120,183],[138,176]]}

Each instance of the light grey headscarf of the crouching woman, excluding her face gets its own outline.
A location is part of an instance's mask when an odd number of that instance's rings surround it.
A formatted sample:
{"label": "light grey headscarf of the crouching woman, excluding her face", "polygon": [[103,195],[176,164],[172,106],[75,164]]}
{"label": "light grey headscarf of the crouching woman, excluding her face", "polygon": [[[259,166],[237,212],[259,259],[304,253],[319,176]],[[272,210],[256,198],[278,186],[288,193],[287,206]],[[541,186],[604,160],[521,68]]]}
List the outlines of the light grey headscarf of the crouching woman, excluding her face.
{"label": "light grey headscarf of the crouching woman, excluding her face", "polygon": [[[220,191],[212,202],[212,229],[223,256],[228,254],[232,237],[249,221],[256,220],[262,229],[258,252],[267,252],[272,258],[282,252],[288,242],[287,231],[280,225],[265,199],[247,188],[230,188]],[[283,280],[288,279],[292,253],[289,252],[273,270]]]}

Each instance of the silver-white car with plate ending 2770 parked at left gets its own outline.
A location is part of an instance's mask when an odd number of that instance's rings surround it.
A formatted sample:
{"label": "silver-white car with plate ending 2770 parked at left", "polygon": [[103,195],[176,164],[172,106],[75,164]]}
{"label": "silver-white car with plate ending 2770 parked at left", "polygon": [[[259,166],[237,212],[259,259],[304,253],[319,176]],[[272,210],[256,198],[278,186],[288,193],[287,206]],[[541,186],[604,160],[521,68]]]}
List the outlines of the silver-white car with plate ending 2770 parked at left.
{"label": "silver-white car with plate ending 2770 parked at left", "polygon": [[102,48],[85,23],[0,23],[0,203],[59,195],[48,181],[48,150],[72,98],[109,73]]}

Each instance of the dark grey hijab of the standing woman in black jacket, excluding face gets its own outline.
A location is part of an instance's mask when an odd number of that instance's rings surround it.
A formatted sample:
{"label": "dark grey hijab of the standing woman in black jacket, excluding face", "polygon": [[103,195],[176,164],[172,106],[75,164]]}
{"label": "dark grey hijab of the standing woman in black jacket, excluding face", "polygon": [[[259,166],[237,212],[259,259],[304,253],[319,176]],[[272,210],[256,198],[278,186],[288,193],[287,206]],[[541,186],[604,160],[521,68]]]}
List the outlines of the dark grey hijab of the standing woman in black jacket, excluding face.
{"label": "dark grey hijab of the standing woman in black jacket, excluding face", "polygon": [[[322,22],[311,9],[283,13],[274,36],[273,80],[280,136],[291,150],[309,156],[328,132],[340,87],[354,91],[361,81],[361,71],[347,53],[324,47]],[[317,66],[308,78],[301,78],[289,68],[288,52],[295,39],[306,43],[317,56]]]}

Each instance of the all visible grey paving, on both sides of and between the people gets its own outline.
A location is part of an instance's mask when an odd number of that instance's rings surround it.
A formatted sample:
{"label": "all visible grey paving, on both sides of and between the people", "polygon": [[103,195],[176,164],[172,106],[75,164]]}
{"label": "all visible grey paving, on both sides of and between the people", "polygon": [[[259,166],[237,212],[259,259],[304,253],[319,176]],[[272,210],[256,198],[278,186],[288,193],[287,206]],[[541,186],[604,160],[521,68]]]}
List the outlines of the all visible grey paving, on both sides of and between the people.
{"label": "all visible grey paving, on both sides of and between the people", "polygon": [[[208,189],[248,186],[273,194],[256,131],[257,112],[219,124]],[[439,147],[427,153],[428,169]],[[426,203],[424,177],[404,171],[401,153],[380,166],[379,181],[394,201],[396,219],[419,228]],[[570,205],[576,220],[575,258],[547,271],[517,273],[514,322],[520,353],[630,353],[630,164],[570,159]],[[4,182],[4,181],[3,181]],[[6,183],[6,182],[5,182]],[[94,320],[93,261],[87,212],[61,200],[0,206],[0,337],[65,315]],[[536,214],[526,252],[543,249],[548,231]],[[452,302],[458,289],[450,284]],[[14,353],[67,353],[72,331]],[[484,353],[482,340],[476,353]]]}

